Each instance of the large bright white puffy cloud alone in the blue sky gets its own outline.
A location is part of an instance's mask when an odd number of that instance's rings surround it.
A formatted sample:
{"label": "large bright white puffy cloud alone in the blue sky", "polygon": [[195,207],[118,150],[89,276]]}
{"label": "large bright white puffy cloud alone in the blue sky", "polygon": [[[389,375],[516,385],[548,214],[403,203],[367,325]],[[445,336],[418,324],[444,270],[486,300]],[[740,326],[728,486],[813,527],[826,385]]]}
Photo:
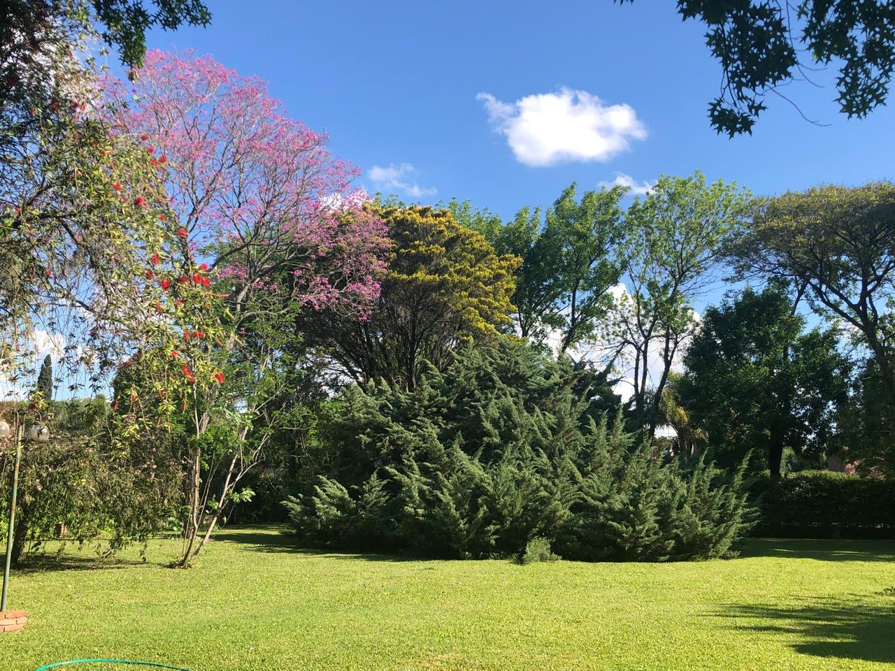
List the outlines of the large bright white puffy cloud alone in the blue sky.
{"label": "large bright white puffy cloud alone in the blue sky", "polygon": [[507,103],[480,93],[494,130],[520,163],[551,166],[563,161],[607,161],[644,140],[646,128],[632,106],[606,105],[587,91],[560,89]]}

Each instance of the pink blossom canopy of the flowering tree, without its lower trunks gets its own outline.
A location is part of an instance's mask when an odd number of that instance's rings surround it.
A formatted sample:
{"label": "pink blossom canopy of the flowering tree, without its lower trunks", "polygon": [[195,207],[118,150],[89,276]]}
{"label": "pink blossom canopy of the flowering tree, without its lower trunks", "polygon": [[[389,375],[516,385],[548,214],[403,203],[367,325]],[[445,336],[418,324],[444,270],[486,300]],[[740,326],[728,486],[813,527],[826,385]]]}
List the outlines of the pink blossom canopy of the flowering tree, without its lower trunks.
{"label": "pink blossom canopy of the flowering tree, without its lower trunks", "polygon": [[[313,309],[369,314],[386,229],[350,190],[358,169],[329,154],[325,133],[207,55],[149,51],[132,81],[131,95],[124,82],[107,89],[115,132],[166,171],[188,253],[233,279],[237,307],[267,287]],[[289,286],[273,285],[284,270]]]}

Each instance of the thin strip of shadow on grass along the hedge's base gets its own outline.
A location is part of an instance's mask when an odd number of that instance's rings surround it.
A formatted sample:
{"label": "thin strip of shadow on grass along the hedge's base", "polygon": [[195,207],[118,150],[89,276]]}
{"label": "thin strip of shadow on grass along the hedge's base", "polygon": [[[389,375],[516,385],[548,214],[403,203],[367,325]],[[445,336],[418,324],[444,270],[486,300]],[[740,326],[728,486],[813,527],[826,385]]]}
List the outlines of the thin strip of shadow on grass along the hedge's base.
{"label": "thin strip of shadow on grass along the hedge's base", "polygon": [[741,557],[895,562],[895,540],[746,539]]}

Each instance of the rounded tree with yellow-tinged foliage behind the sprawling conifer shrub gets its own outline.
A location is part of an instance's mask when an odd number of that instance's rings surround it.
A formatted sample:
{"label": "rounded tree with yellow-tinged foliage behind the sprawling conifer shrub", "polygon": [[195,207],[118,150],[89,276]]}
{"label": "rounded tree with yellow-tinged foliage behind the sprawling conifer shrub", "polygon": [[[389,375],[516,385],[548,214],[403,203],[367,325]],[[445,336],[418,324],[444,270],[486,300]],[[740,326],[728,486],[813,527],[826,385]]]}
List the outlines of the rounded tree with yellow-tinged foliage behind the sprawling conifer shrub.
{"label": "rounded tree with yellow-tinged foliage behind the sprawling conifer shrub", "polygon": [[444,369],[451,352],[510,326],[519,259],[499,256],[482,234],[446,209],[377,208],[393,248],[370,318],[309,314],[312,344],[358,382],[413,388],[426,362]]}

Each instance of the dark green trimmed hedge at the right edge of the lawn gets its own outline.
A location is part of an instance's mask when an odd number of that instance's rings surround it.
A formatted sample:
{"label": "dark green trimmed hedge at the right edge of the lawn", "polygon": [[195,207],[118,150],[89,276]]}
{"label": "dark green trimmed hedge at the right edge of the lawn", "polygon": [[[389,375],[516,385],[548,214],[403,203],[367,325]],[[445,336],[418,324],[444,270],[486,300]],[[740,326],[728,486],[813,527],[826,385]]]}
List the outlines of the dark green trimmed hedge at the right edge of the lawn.
{"label": "dark green trimmed hedge at the right edge of the lawn", "polygon": [[753,536],[895,538],[895,480],[802,471],[765,476],[749,491],[761,510]]}

